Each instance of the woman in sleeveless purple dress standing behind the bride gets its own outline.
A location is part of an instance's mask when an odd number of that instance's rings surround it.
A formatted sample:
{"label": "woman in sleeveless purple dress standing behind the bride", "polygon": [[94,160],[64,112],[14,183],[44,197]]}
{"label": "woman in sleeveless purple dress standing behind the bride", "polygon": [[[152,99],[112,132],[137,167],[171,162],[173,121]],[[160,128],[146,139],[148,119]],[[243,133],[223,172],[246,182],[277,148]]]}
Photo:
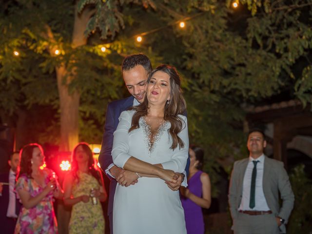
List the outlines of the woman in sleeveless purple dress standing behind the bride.
{"label": "woman in sleeveless purple dress standing behind the bride", "polygon": [[203,150],[191,146],[189,153],[191,162],[187,178],[188,187],[180,187],[186,230],[188,234],[204,234],[205,225],[201,208],[208,209],[211,204],[210,178],[207,173],[201,171]]}

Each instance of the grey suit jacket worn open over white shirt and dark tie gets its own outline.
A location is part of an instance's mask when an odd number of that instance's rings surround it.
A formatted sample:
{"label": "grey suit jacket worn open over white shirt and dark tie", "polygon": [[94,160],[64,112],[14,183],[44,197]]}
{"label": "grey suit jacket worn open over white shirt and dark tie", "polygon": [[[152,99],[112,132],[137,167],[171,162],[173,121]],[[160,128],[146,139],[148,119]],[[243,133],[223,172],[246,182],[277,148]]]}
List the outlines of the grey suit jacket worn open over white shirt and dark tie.
{"label": "grey suit jacket worn open over white shirt and dark tie", "polygon": [[[229,204],[233,222],[238,215],[248,161],[249,157],[234,162],[229,188]],[[283,201],[281,207],[278,202],[278,191]],[[263,193],[273,214],[284,218],[287,223],[294,202],[291,183],[284,168],[284,163],[267,156],[264,159]],[[286,232],[284,225],[280,229],[282,232]]]}

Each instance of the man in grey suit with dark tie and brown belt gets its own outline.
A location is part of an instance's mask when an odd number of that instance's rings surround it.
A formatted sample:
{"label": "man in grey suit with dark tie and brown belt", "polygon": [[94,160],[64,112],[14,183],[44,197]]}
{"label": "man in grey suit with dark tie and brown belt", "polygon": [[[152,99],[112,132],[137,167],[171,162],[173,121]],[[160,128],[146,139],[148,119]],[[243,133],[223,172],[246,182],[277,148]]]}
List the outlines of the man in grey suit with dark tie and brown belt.
{"label": "man in grey suit with dark tie and brown belt", "polygon": [[[235,161],[229,188],[234,234],[286,233],[294,195],[283,162],[263,154],[266,147],[260,129],[249,132],[249,158]],[[278,192],[282,199],[279,206]]]}

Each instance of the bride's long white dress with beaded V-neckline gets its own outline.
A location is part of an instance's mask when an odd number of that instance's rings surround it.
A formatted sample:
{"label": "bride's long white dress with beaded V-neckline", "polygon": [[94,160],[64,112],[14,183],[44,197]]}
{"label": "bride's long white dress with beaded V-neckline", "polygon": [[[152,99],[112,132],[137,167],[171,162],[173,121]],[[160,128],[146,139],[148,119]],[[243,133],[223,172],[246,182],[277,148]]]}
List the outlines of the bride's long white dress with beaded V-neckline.
{"label": "bride's long white dress with beaded V-neckline", "polygon": [[[182,173],[186,166],[189,150],[187,118],[183,121],[178,136],[184,148],[170,149],[172,138],[170,123],[159,127],[154,144],[149,142],[149,125],[143,117],[139,128],[128,132],[135,111],[124,111],[119,117],[114,132],[112,156],[114,164],[123,168],[125,162],[134,156],[142,161],[161,163],[164,169]],[[113,208],[114,234],[186,234],[184,211],[179,192],[168,188],[160,178],[141,177],[137,184],[122,187],[117,184]]]}

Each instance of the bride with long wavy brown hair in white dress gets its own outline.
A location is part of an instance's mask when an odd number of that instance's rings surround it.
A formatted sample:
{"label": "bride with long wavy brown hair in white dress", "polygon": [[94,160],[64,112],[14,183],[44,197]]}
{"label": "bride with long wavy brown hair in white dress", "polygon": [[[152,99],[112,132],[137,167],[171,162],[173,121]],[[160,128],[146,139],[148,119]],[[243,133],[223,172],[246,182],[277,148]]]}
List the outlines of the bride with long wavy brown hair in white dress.
{"label": "bride with long wavy brown hair in white dress", "polygon": [[[117,176],[114,234],[186,234],[179,193],[165,183],[176,182],[175,172],[184,171],[188,158],[180,85],[174,67],[158,66],[148,77],[144,102],[119,117],[112,157],[129,172]],[[138,182],[128,186],[129,177]]]}

